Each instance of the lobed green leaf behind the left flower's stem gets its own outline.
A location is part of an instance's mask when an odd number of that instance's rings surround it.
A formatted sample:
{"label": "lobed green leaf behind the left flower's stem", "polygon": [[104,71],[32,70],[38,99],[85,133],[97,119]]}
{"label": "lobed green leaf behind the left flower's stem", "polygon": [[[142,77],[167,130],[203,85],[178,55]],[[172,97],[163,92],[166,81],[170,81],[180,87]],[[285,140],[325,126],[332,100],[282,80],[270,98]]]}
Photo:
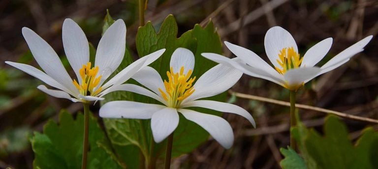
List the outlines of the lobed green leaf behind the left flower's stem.
{"label": "lobed green leaf behind the left flower's stem", "polygon": [[[34,151],[34,168],[40,169],[79,169],[83,151],[84,115],[79,113],[74,120],[71,114],[62,111],[59,125],[50,120],[43,134],[34,132],[30,139]],[[91,116],[89,122],[89,169],[120,169],[111,151],[107,151],[104,133]]]}

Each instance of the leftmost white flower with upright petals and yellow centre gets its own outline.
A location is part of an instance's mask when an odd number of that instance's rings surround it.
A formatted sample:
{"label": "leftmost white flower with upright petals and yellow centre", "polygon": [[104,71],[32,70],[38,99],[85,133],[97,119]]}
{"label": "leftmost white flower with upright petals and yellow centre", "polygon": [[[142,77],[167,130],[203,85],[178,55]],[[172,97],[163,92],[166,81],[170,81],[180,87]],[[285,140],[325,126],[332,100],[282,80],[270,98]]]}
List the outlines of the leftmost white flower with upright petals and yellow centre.
{"label": "leftmost white flower with upright petals and yellow centre", "polygon": [[89,62],[89,44],[83,30],[71,19],[64,20],[63,47],[77,80],[69,77],[59,56],[45,40],[30,28],[22,28],[22,34],[32,55],[44,72],[27,64],[11,61],[5,61],[5,63],[59,89],[48,89],[45,85],[39,85],[37,88],[43,92],[73,102],[103,100],[99,97],[100,95],[103,96],[109,89],[126,82],[138,70],[155,61],[165,51],[162,49],[138,59],[103,84],[124,58],[126,26],[123,20],[114,22],[102,36],[98,43],[94,67]]}

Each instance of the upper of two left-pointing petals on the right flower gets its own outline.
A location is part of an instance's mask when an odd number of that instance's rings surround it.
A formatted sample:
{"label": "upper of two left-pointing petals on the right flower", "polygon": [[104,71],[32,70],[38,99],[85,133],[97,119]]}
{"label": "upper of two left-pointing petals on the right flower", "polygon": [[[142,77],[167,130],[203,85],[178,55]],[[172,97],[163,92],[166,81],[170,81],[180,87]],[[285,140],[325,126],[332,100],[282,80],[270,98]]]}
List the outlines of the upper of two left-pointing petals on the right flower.
{"label": "upper of two left-pointing petals on the right flower", "polygon": [[227,48],[236,56],[240,57],[245,63],[253,68],[261,69],[271,74],[277,74],[277,71],[273,69],[267,62],[265,62],[260,56],[257,56],[252,51],[243,48],[238,45],[234,45],[229,42],[224,42]]}

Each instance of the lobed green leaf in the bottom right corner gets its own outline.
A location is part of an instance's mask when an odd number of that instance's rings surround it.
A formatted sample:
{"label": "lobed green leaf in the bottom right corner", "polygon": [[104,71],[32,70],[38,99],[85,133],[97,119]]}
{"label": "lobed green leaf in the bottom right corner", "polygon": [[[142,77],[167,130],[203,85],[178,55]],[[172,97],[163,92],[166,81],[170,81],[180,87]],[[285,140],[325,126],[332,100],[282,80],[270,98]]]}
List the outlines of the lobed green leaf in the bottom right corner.
{"label": "lobed green leaf in the bottom right corner", "polygon": [[378,166],[378,133],[364,130],[355,145],[348,139],[347,127],[330,115],[324,125],[324,136],[299,122],[292,129],[309,169],[374,169]]}

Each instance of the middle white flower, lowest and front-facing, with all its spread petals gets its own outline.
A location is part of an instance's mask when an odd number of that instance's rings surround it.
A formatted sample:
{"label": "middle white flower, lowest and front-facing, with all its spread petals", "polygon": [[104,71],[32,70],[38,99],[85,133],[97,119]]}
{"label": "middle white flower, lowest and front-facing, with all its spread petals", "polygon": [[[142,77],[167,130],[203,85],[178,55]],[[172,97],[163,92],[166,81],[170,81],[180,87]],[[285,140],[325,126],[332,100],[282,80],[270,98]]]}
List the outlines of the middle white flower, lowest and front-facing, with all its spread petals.
{"label": "middle white flower, lowest and front-facing, with all its spread petals", "polygon": [[156,142],[163,141],[179,124],[179,114],[207,130],[225,148],[231,147],[234,136],[230,124],[223,118],[192,111],[189,107],[201,107],[220,112],[235,113],[247,118],[255,127],[253,117],[243,108],[211,100],[197,100],[220,94],[234,85],[242,72],[219,64],[205,72],[193,84],[190,78],[194,68],[194,55],[188,49],[178,48],[172,54],[168,80],[161,80],[152,67],[145,67],[132,78],[150,90],[134,85],[122,84],[112,90],[126,90],[149,96],[164,105],[138,103],[132,101],[112,101],[103,105],[99,115],[105,118],[150,119]]}

